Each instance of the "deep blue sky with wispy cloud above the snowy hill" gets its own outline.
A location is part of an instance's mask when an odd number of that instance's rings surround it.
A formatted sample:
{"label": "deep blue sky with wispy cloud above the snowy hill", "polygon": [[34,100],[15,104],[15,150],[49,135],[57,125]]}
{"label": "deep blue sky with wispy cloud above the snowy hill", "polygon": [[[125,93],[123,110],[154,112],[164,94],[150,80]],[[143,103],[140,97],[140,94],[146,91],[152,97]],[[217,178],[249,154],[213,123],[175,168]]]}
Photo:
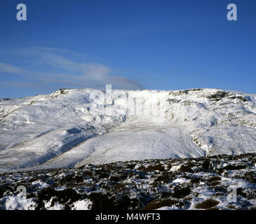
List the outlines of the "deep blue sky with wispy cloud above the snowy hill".
{"label": "deep blue sky with wispy cloud above the snowy hill", "polygon": [[1,0],[0,97],[105,84],[256,93],[255,23],[255,0]]}

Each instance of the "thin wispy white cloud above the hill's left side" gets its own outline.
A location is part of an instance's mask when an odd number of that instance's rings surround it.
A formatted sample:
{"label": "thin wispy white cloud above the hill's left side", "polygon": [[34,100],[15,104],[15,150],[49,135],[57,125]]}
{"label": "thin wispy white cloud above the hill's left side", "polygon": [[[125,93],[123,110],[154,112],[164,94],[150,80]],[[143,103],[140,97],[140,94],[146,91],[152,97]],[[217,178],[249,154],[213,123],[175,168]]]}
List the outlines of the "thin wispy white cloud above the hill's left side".
{"label": "thin wispy white cloud above the hill's left side", "polygon": [[113,76],[112,69],[99,63],[76,62],[83,55],[58,48],[22,48],[8,50],[19,57],[20,65],[0,62],[0,72],[14,73],[22,78],[5,85],[48,88],[48,85],[65,87],[96,87],[112,84],[116,88],[142,90],[143,87],[129,78]]}

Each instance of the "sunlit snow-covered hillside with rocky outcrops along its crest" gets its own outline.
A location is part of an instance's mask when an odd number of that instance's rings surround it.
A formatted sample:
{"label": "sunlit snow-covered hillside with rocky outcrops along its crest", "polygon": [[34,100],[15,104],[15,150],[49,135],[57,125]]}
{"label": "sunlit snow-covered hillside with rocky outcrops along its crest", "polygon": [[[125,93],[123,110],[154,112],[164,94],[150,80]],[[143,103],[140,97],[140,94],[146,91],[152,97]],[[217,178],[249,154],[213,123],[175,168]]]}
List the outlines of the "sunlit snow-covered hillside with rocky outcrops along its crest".
{"label": "sunlit snow-covered hillside with rocky outcrops along its crest", "polygon": [[256,152],[256,94],[83,89],[0,100],[0,171]]}

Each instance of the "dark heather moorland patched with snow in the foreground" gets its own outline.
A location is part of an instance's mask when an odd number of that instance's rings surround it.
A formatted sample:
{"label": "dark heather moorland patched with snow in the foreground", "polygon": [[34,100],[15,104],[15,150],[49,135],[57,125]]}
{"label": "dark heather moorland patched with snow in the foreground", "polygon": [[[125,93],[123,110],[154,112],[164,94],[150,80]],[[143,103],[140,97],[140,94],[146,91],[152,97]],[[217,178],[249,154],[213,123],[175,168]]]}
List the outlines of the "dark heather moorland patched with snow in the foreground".
{"label": "dark heather moorland patched with snow in the foreground", "polygon": [[0,209],[255,210],[255,174],[255,153],[6,173]]}

